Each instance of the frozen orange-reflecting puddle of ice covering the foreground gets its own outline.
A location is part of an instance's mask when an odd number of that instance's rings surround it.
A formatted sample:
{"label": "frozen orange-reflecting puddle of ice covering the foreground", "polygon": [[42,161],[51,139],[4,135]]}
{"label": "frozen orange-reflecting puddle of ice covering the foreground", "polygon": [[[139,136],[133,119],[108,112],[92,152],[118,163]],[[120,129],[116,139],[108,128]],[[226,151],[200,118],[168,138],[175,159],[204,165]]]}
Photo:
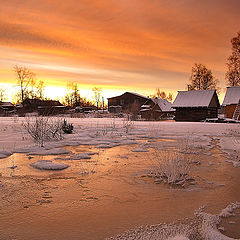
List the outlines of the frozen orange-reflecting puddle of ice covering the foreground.
{"label": "frozen orange-reflecting puddle of ice covering the foreground", "polygon": [[[147,141],[140,144],[149,147]],[[176,151],[174,141],[160,144]],[[154,179],[146,177],[154,165],[155,150],[132,152],[135,147],[66,147],[74,154],[95,153],[91,159],[82,160],[60,160],[63,155],[29,158],[25,154],[1,159],[0,236],[104,239],[141,225],[191,218],[203,205],[207,206],[207,212],[216,214],[240,199],[239,169],[225,162],[218,147],[188,154],[201,164],[193,164],[190,174],[196,184],[186,189],[155,184]],[[53,160],[70,167],[42,171],[29,166],[37,160]],[[13,165],[17,167],[9,168]],[[223,225],[224,234],[240,237],[239,215],[226,219]]]}

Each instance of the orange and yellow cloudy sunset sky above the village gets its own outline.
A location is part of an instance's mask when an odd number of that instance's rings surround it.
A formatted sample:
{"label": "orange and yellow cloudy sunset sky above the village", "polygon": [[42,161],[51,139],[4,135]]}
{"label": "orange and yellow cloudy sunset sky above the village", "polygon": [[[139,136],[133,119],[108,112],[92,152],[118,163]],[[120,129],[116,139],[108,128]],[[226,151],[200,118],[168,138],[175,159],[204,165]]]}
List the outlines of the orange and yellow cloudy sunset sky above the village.
{"label": "orange and yellow cloudy sunset sky above the village", "polygon": [[104,97],[156,88],[176,96],[202,63],[222,100],[239,9],[239,0],[0,0],[0,88],[17,90],[18,65],[52,98],[69,82],[88,98],[93,87]]}

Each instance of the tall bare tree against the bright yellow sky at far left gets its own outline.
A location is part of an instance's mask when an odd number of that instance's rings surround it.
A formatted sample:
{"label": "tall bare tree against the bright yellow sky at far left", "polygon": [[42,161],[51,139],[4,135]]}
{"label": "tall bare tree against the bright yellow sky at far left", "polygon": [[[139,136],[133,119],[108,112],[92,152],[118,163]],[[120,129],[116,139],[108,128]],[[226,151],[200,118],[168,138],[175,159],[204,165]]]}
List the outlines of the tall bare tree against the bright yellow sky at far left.
{"label": "tall bare tree against the bright yellow sky at far left", "polygon": [[[33,86],[34,86],[34,78],[35,74],[26,67],[19,67],[16,65],[14,67],[14,72],[17,75],[17,81],[18,85],[20,86],[20,100],[24,101],[31,93],[33,94]],[[29,89],[29,86],[32,87],[32,89]],[[31,92],[32,91],[32,92]]]}

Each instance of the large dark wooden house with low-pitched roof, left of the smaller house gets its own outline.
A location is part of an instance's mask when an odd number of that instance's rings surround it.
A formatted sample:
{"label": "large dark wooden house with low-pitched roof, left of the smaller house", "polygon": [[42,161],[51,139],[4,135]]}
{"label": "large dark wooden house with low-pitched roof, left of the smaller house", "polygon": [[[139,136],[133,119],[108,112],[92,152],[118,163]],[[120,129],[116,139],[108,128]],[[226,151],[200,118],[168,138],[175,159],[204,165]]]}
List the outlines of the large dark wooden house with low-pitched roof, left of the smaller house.
{"label": "large dark wooden house with low-pitched roof, left of the smaller house", "polygon": [[108,111],[113,113],[122,111],[137,114],[147,100],[147,97],[140,94],[125,92],[120,96],[108,98]]}

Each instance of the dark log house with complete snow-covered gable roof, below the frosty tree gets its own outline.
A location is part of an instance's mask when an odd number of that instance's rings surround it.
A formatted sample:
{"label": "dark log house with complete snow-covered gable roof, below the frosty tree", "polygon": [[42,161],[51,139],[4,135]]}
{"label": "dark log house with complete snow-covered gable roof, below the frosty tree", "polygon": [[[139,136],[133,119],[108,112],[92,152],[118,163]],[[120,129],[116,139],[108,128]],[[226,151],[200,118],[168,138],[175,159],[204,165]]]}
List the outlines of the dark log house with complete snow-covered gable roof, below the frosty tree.
{"label": "dark log house with complete snow-covered gable roof, below the frosty tree", "polygon": [[176,121],[189,122],[217,118],[219,107],[216,90],[179,91],[172,106]]}

